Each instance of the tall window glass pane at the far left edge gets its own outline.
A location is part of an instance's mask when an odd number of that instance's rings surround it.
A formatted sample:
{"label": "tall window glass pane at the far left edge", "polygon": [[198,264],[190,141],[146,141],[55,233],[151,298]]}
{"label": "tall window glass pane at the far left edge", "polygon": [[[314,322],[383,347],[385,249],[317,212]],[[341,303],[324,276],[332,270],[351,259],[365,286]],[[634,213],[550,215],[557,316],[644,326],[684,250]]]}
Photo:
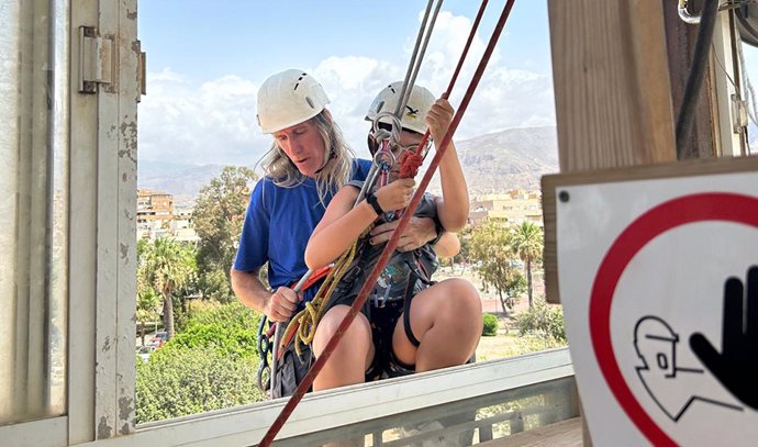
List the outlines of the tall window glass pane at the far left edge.
{"label": "tall window glass pane at the far left edge", "polygon": [[[0,424],[66,407],[68,64],[55,2],[0,8]],[[65,33],[67,27],[57,29]]]}

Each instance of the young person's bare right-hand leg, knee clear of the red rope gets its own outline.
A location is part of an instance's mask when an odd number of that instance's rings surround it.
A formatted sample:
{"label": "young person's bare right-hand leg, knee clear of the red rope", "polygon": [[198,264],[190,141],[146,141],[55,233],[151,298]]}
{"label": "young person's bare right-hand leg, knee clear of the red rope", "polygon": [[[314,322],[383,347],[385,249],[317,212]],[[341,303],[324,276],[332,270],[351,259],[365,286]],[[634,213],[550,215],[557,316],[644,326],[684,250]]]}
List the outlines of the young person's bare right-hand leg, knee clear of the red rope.
{"label": "young person's bare right-hand leg, knee clear of the red rope", "polygon": [[428,371],[464,365],[473,355],[482,331],[481,300],[468,281],[453,278],[421,291],[411,301],[411,328],[416,348],[405,335],[402,316],[392,334],[398,360]]}

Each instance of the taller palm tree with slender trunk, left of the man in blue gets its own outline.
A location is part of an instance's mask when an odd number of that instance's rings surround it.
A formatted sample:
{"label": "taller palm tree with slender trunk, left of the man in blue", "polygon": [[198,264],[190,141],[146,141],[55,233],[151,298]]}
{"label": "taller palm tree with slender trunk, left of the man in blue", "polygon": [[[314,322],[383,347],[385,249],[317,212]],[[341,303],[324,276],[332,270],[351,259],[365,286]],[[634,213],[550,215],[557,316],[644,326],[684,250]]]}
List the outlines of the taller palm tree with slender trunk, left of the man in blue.
{"label": "taller palm tree with slender trunk, left of the man in blue", "polygon": [[142,273],[164,299],[164,327],[174,337],[174,291],[182,287],[197,269],[194,250],[167,237],[158,237],[145,250]]}

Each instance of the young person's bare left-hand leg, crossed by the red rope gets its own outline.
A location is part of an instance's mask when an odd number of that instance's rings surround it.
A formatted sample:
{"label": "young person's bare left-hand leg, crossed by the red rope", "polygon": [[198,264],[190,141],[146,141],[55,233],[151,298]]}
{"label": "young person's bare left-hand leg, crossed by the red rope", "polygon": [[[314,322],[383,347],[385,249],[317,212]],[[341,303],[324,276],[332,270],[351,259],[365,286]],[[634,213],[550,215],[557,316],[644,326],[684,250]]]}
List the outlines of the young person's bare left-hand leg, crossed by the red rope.
{"label": "young person's bare left-hand leg, crossed by the red rope", "polygon": [[[347,305],[335,305],[323,316],[313,338],[313,354],[316,358],[324,351],[349,309]],[[372,359],[371,326],[366,315],[359,313],[316,376],[313,390],[363,383],[366,380],[366,369]]]}

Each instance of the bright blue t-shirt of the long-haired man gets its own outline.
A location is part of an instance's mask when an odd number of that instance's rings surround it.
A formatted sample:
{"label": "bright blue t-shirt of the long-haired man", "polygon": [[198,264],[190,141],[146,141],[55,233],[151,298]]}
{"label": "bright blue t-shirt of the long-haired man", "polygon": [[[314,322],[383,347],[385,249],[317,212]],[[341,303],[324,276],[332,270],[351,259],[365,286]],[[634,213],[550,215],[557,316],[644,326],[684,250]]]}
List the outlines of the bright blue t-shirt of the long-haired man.
{"label": "bright blue t-shirt of the long-haired man", "polygon": [[[350,179],[366,180],[370,168],[370,160],[354,160]],[[274,289],[300,280],[308,271],[303,259],[308,239],[332,195],[330,192],[320,201],[312,178],[293,188],[278,187],[269,177],[260,179],[247,205],[234,268],[255,271],[268,261],[268,282]],[[306,290],[304,300],[313,298],[316,290]]]}

